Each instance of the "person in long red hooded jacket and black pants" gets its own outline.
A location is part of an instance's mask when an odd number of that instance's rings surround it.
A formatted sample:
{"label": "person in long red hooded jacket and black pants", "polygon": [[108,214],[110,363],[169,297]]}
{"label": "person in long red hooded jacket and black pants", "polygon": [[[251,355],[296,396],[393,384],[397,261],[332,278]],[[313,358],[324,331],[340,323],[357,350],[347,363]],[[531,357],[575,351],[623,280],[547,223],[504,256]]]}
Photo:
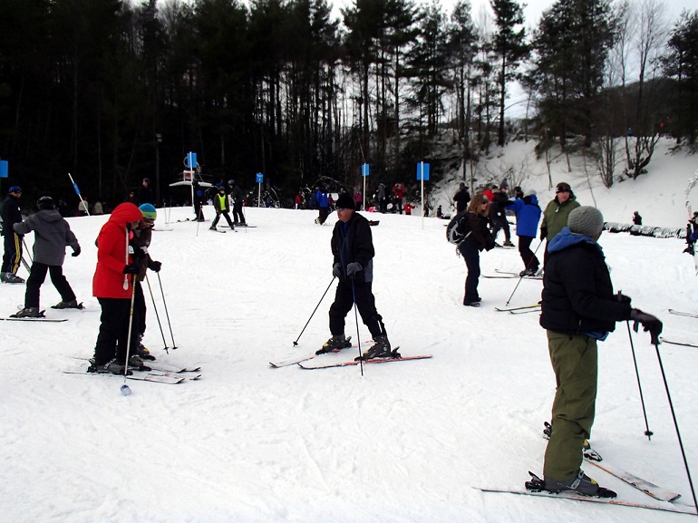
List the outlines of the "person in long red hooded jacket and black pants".
{"label": "person in long red hooded jacket and black pants", "polygon": [[102,306],[100,333],[94,347],[89,373],[129,373],[126,347],[138,344],[138,332],[131,329],[131,296],[139,266],[129,252],[129,238],[141,223],[143,214],[130,202],[111,212],[97,237],[97,268],[92,276],[92,295]]}

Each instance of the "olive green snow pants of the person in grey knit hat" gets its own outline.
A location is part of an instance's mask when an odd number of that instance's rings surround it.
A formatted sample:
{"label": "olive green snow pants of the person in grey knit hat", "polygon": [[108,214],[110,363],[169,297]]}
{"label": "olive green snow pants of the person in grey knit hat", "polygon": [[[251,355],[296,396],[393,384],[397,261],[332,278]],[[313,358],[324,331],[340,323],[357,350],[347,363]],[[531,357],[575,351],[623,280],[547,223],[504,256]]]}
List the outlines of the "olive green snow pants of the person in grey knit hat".
{"label": "olive green snow pants of the person in grey knit hat", "polygon": [[553,431],[543,474],[564,481],[577,476],[584,441],[591,435],[596,403],[596,339],[584,334],[548,332],[548,351],[557,389],[552,410]]}

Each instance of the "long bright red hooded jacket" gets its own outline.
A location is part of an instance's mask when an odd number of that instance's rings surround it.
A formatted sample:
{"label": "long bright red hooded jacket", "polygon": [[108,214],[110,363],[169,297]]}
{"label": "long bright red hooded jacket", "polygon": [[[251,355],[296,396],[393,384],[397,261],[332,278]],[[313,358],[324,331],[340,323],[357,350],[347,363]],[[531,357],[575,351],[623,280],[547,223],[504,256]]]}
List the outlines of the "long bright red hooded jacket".
{"label": "long bright red hooded jacket", "polygon": [[125,266],[133,263],[129,254],[131,222],[143,217],[141,209],[132,203],[121,203],[97,237],[97,268],[92,276],[92,295],[98,298],[131,298],[131,276],[124,275]]}

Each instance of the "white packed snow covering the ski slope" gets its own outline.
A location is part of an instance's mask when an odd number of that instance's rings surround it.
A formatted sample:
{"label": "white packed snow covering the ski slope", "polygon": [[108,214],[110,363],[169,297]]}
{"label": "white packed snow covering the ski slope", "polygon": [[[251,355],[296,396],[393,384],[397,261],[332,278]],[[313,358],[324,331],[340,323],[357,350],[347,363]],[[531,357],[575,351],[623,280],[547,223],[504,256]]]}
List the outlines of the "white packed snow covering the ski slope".
{"label": "white packed snow covering the ski slope", "polygon": [[[607,221],[683,228],[684,190],[698,167],[685,152],[657,152],[649,174],[603,189],[591,180]],[[532,144],[506,161],[530,158]],[[524,189],[552,198],[544,164],[531,160]],[[492,160],[497,162],[501,159]],[[492,167],[496,163],[491,164]],[[593,205],[587,177],[553,166]],[[444,203],[454,192],[452,179]],[[698,192],[698,190],[696,191]],[[698,208],[698,194],[693,194]],[[446,210],[446,207],[444,207]],[[0,519],[7,522],[674,522],[691,516],[483,493],[522,489],[542,471],[541,437],[555,392],[538,314],[494,307],[535,304],[541,282],[480,278],[479,309],[461,305],[465,264],[445,238],[445,220],[365,213],[372,228],[374,294],[393,346],[428,360],[325,370],[275,369],[269,362],[310,355],[329,337],[334,285],[330,237],[316,211],[246,208],[257,228],[208,230],[191,208],[160,208],[150,247],[145,344],[157,363],[201,366],[176,385],[69,374],[92,356],[100,306],[92,297],[94,239],[108,217],[69,218],[82,254],[63,266],[85,309],[53,310],[47,278],[41,303],[64,323],[2,322],[0,331]],[[207,218],[213,209],[204,208]],[[226,230],[226,229],[222,229]],[[31,247],[32,235],[26,238]],[[513,238],[517,243],[516,237]],[[667,338],[696,343],[698,280],[683,239],[604,233],[616,290],[657,315]],[[538,240],[533,247],[538,246]],[[542,254],[543,247],[538,251]],[[26,256],[26,255],[25,255]],[[515,249],[480,257],[482,273],[523,268]],[[20,276],[26,277],[24,268]],[[161,286],[160,286],[161,284]],[[321,300],[325,289],[329,291]],[[2,315],[24,303],[24,286],[2,284]],[[163,293],[164,291],[164,300]],[[516,292],[514,292],[516,291]],[[513,295],[512,295],[513,293]],[[318,305],[315,315],[313,311]],[[157,310],[160,316],[156,317]],[[312,317],[311,317],[312,315]],[[310,318],[307,327],[305,323]],[[170,332],[171,327],[171,332]],[[346,333],[362,348],[368,332],[354,311]],[[654,431],[645,418],[625,324],[599,344],[599,392],[592,444],[607,462],[682,493],[693,504],[657,354],[642,330],[630,335]],[[297,346],[294,342],[297,339]],[[164,347],[177,348],[165,351]],[[358,348],[319,356],[354,358]],[[698,479],[698,349],[660,345],[686,457]],[[587,473],[619,499],[655,501],[593,465]],[[694,517],[693,517],[694,518]]]}

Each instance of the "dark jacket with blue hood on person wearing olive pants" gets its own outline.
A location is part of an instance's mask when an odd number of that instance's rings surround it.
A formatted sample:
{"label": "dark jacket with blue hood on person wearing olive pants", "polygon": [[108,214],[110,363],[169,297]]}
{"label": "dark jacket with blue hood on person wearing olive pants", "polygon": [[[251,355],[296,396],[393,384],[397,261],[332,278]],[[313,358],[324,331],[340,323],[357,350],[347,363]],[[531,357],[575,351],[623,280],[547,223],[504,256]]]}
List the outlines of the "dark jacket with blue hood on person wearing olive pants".
{"label": "dark jacket with blue hood on person wearing olive pants", "polygon": [[[565,227],[548,246],[540,326],[565,334],[605,334],[630,319],[615,299],[604,252],[590,237]],[[602,337],[595,335],[595,337]]]}

